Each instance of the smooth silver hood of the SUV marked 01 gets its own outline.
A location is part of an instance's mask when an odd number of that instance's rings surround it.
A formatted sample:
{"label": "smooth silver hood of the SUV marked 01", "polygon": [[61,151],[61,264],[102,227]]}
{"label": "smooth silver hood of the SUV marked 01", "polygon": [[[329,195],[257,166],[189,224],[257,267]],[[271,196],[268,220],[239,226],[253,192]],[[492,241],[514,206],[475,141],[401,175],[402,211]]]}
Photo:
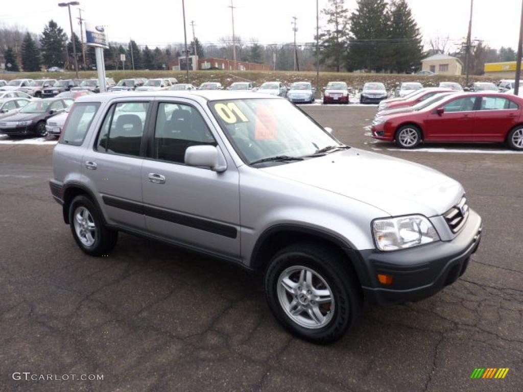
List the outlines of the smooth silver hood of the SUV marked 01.
{"label": "smooth silver hood of the SUV marked 01", "polygon": [[459,182],[439,171],[357,148],[260,170],[359,200],[392,216],[441,215],[464,193]]}

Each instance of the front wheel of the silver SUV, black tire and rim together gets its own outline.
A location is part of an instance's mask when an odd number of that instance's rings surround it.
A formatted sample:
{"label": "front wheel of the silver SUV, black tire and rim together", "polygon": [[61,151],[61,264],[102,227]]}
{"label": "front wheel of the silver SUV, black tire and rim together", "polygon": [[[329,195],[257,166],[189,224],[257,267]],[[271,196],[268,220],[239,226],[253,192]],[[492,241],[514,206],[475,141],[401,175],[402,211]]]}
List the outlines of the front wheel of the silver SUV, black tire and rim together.
{"label": "front wheel of the silver SUV, black tire and rim together", "polygon": [[295,336],[327,344],[341,338],[359,316],[355,276],[323,246],[295,244],[279,251],[265,274],[271,312]]}

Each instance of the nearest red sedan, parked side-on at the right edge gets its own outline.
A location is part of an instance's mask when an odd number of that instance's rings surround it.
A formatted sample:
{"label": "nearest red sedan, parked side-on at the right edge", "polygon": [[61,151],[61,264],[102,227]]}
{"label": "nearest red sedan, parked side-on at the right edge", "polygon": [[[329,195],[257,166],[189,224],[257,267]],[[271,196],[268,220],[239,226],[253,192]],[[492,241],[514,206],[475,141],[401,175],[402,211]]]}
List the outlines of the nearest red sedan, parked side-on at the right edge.
{"label": "nearest red sedan, parked side-on at the right edge", "polygon": [[423,110],[372,123],[372,137],[402,148],[422,142],[506,142],[523,151],[523,99],[499,93],[459,93]]}

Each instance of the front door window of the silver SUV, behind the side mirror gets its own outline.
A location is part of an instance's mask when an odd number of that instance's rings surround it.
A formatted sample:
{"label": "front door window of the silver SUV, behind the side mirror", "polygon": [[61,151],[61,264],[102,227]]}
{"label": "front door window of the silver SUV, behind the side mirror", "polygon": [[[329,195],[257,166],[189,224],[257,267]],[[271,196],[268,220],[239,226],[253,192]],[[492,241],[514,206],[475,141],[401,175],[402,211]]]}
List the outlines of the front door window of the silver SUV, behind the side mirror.
{"label": "front door window of the silver SUV, behind the side mirror", "polygon": [[185,163],[185,150],[190,146],[216,146],[201,114],[182,103],[160,103],[154,129],[153,158]]}

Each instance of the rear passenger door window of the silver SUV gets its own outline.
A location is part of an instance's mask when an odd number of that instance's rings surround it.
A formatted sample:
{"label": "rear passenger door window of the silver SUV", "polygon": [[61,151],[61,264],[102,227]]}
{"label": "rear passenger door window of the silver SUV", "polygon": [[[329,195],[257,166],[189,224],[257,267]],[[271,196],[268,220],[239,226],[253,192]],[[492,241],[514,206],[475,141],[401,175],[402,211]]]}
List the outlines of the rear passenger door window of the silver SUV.
{"label": "rear passenger door window of the silver SUV", "polygon": [[140,156],[149,102],[120,102],[107,112],[96,151]]}

